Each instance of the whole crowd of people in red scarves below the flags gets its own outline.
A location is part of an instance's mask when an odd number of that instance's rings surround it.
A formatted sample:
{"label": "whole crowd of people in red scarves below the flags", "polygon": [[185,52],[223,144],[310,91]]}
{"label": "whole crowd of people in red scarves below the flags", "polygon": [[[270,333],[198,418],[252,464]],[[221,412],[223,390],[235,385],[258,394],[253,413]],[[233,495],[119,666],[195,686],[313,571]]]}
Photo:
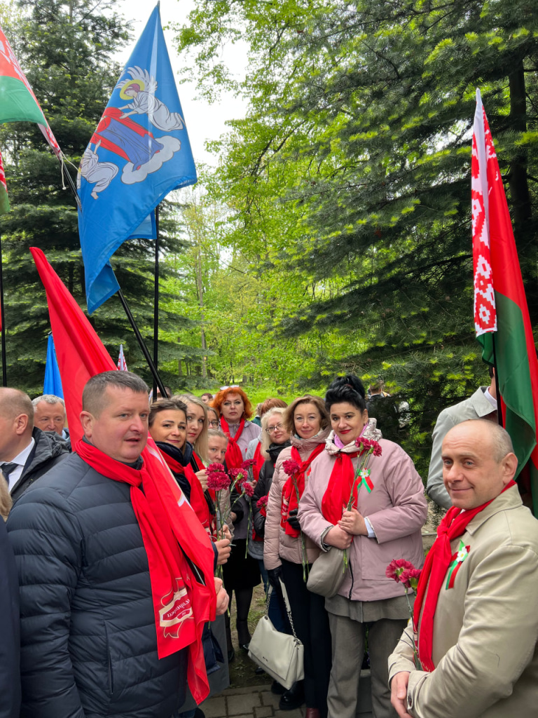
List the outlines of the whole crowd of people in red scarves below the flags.
{"label": "whole crowd of people in red scarves below the flags", "polygon": [[271,685],[283,711],[354,718],[369,668],[375,718],[535,715],[538,523],[494,379],[435,427],[428,490],[448,513],[426,561],[423,481],[384,437],[409,405],[387,419],[369,390],[340,376],[254,411],[240,386],[151,401],[109,371],[72,445],[61,398],[1,388],[0,718],[202,718],[233,630],[249,650],[258,585],[303,644],[303,680]]}

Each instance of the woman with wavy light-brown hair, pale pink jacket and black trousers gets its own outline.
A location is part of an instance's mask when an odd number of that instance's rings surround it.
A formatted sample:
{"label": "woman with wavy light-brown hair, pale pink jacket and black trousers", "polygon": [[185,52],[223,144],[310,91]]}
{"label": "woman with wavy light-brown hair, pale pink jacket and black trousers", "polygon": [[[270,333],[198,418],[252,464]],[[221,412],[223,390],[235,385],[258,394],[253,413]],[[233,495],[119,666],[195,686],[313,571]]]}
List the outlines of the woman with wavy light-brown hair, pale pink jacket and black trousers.
{"label": "woman with wavy light-brown hair, pale pink jacket and black trousers", "polygon": [[311,464],[324,450],[329,434],[329,415],[319,396],[301,396],[283,414],[283,424],[291,435],[291,447],[283,449],[275,464],[265,519],[263,562],[270,582],[281,577],[290,600],[291,615],[298,638],[304,645],[304,681],[295,684],[280,699],[280,709],[293,709],[306,701],[307,718],[326,718],[327,689],[331,672],[331,633],[324,598],[311,593],[303,580],[303,559],[312,564],[319,549],[307,536],[303,556],[301,527],[297,521],[297,498],[283,462],[294,460],[300,493],[308,483]]}

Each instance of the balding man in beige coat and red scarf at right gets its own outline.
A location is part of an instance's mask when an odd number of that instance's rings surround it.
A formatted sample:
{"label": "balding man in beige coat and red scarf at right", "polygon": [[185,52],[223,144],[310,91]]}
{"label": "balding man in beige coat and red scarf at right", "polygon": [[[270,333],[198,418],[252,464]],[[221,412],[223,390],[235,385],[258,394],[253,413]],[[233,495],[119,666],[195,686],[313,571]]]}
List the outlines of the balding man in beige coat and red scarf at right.
{"label": "balding man in beige coat and red scarf at right", "polygon": [[538,521],[514,482],[504,429],[464,421],[443,441],[453,503],[389,658],[400,718],[530,718],[538,710]]}

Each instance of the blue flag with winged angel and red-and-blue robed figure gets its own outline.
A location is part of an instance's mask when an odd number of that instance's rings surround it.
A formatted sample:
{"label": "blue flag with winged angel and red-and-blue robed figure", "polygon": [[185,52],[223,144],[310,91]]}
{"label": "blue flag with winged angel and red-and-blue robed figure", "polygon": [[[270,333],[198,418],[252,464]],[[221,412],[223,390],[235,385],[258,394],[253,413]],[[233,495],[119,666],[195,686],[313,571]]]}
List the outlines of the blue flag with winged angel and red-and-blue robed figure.
{"label": "blue flag with winged angel and red-and-blue robed figure", "polygon": [[78,169],[78,228],[90,314],[120,288],[110,266],[116,249],[130,238],[151,238],[151,215],[159,202],[196,181],[156,6]]}

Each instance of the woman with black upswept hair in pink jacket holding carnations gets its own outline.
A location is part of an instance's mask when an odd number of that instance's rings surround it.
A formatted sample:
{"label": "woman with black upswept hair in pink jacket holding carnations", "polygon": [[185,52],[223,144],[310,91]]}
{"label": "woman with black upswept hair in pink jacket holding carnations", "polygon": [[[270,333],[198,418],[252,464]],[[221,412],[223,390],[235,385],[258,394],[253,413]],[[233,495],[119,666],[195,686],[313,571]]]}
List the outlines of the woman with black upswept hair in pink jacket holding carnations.
{"label": "woman with black upswept hair in pink jacket holding carnations", "polygon": [[[322,551],[336,546],[347,549],[349,556],[339,592],[325,600],[333,661],[329,718],[355,717],[366,637],[374,717],[396,718],[387,661],[407,625],[409,610],[402,584],[387,578],[385,569],[392,559],[407,559],[417,568],[424,563],[424,486],[405,451],[382,439],[375,421],[368,421],[364,386],[357,376],[336,378],[325,404],[333,431],[326,450],[313,462],[298,519]],[[356,486],[357,508],[348,511],[345,504],[358,461],[355,439],[361,436],[377,439],[382,454],[370,455],[369,484]]]}

